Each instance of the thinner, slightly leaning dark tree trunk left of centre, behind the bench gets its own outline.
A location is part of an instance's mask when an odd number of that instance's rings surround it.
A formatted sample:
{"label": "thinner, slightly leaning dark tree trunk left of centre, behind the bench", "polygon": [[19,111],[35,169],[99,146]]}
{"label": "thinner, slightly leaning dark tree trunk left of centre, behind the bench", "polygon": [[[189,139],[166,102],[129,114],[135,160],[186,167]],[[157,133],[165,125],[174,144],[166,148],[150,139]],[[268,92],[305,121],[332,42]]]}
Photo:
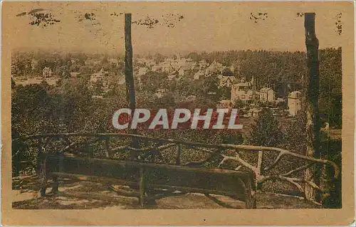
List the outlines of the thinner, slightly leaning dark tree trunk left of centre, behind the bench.
{"label": "thinner, slightly leaning dark tree trunk left of centre, behind the bench", "polygon": [[[125,14],[125,83],[127,102],[132,110],[132,115],[136,107],[135,101],[135,82],[132,66],[132,41],[131,41],[131,14]],[[132,116],[131,116],[132,117]],[[131,124],[129,125],[129,128]],[[130,130],[130,133],[136,134],[136,130]],[[132,147],[138,148],[137,139],[132,138]],[[137,157],[137,153],[130,152],[132,161]]]}

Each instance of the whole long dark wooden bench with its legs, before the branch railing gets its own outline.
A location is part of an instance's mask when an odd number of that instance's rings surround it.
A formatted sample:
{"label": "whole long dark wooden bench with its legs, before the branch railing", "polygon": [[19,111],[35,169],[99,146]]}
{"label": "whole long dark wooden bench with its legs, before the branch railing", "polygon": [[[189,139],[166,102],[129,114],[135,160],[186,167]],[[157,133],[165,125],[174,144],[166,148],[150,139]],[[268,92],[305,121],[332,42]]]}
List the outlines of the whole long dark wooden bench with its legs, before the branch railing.
{"label": "whole long dark wooden bench with its legs, before the branch railing", "polygon": [[110,184],[138,186],[139,193],[123,193],[137,196],[140,205],[145,207],[150,199],[159,195],[147,193],[155,189],[171,191],[220,194],[244,201],[246,208],[256,208],[256,184],[252,173],[226,169],[203,169],[167,164],[123,162],[112,159],[86,157],[66,157],[47,155],[41,163],[43,176],[41,196],[46,195],[48,180],[52,179],[52,191],[58,192],[58,177],[88,176]]}

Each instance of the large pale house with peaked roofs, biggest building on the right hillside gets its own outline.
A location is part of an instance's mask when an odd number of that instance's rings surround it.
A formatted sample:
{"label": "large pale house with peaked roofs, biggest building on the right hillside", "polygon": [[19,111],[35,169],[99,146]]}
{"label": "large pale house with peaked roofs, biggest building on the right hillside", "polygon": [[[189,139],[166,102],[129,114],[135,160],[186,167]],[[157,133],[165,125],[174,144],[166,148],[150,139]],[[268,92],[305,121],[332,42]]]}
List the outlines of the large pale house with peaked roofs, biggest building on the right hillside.
{"label": "large pale house with peaked roofs, biggest building on the right hillside", "polygon": [[231,102],[235,104],[237,100],[243,102],[251,102],[252,100],[258,100],[260,92],[256,90],[256,84],[252,78],[251,82],[245,82],[244,78],[240,83],[236,83],[231,86]]}

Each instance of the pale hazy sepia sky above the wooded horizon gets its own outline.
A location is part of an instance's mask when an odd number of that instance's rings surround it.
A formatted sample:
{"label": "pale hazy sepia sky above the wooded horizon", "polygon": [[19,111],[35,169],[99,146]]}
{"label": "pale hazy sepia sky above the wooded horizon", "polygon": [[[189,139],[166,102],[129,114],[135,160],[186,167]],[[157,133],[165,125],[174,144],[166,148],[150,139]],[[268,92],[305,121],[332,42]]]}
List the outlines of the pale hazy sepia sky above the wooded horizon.
{"label": "pale hazy sepia sky above the wooded horizon", "polygon": [[[12,48],[56,48],[63,51],[108,51],[120,53],[124,48],[123,16],[112,13],[130,12],[132,20],[152,18],[162,21],[167,14],[182,14],[184,19],[174,28],[132,25],[134,53],[187,51],[225,51],[266,49],[305,51],[304,18],[298,12],[315,12],[316,34],[320,48],[338,47],[344,36],[336,32],[337,14],[341,23],[350,18],[352,7],[345,3],[3,3],[3,19],[11,23],[4,31]],[[43,8],[61,20],[48,28],[30,26],[31,16],[15,16],[23,11]],[[95,23],[78,21],[79,14],[93,12]],[[251,13],[267,13],[258,23]],[[163,16],[163,17],[162,17]],[[352,15],[351,15],[352,16]],[[169,18],[170,19],[170,18]],[[345,28],[344,28],[345,29]],[[342,31],[345,33],[345,31]]]}

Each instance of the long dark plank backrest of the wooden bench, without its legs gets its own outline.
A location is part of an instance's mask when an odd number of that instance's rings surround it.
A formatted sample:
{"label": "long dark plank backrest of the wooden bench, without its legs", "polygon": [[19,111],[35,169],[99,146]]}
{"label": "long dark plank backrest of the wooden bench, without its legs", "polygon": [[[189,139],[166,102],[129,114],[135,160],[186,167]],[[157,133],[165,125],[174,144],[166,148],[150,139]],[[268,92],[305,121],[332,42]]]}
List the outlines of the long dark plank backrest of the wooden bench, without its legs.
{"label": "long dark plank backrest of the wooden bench, without its legs", "polygon": [[[226,169],[203,169],[173,166],[167,164],[149,164],[140,162],[123,162],[110,159],[83,157],[64,157],[48,155],[46,171],[67,174],[82,174],[117,178],[138,182],[142,169],[147,186],[174,186],[177,189],[203,189],[216,191],[216,194],[244,196],[247,190],[254,190],[253,174],[246,171]],[[141,174],[140,174],[141,171]],[[194,191],[194,190],[193,190]]]}

